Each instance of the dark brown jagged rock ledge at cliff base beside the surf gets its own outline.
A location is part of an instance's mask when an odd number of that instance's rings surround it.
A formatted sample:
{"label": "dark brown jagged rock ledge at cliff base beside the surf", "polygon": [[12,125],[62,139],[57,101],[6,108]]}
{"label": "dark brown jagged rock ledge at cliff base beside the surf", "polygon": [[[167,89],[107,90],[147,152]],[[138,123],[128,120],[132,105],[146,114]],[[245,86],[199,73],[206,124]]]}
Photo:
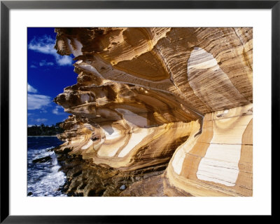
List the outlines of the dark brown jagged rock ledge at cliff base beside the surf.
{"label": "dark brown jagged rock ledge at cliff base beside the surf", "polygon": [[69,197],[120,196],[127,186],[153,176],[160,176],[167,167],[167,164],[163,164],[135,171],[118,171],[105,164],[95,165],[84,161],[81,156],[73,157],[59,152],[57,160],[67,176],[66,183],[59,190]]}

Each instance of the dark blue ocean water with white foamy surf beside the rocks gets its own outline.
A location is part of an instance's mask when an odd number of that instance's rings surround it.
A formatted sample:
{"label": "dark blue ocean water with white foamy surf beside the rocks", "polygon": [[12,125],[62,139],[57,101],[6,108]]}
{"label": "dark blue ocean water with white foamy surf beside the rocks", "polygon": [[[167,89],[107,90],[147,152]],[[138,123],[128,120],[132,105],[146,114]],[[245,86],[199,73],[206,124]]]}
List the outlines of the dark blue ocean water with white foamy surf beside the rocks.
{"label": "dark blue ocean water with white foamy surf beside the rocks", "polygon": [[[61,166],[57,163],[52,148],[63,142],[57,137],[28,137],[27,138],[27,195],[30,197],[66,196],[59,190],[66,182],[66,176],[58,171]],[[33,163],[34,159],[51,157],[50,161]],[[30,193],[31,192],[31,193]]]}

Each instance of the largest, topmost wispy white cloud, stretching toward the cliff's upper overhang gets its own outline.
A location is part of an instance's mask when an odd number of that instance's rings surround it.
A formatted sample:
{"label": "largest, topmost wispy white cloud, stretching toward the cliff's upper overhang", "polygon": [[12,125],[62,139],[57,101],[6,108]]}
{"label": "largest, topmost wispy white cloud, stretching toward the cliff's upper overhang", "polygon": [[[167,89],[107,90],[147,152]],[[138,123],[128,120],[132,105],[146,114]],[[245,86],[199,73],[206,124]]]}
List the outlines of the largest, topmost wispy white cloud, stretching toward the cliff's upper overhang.
{"label": "largest, topmost wispy white cloud, stretching toward the cliff's upper overhang", "polygon": [[[55,61],[57,65],[72,65],[72,58],[68,55],[59,55],[54,48],[55,39],[52,39],[49,36],[43,36],[39,38],[34,38],[28,44],[29,50],[36,51],[39,53],[44,53],[48,55],[53,55],[55,57]],[[43,66],[43,65],[40,65]]]}

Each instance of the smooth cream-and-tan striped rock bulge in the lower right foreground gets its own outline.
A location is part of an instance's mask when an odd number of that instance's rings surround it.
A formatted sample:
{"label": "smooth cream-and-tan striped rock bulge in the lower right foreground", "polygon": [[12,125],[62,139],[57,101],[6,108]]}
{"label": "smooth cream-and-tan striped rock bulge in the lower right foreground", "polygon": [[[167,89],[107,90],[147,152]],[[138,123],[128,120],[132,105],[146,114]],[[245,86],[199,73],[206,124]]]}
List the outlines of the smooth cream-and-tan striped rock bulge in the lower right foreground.
{"label": "smooth cream-and-tan striped rock bulge in the lower right foreground", "polygon": [[252,129],[251,104],[206,114],[202,134],[190,136],[169,162],[167,195],[179,188],[193,196],[251,196]]}

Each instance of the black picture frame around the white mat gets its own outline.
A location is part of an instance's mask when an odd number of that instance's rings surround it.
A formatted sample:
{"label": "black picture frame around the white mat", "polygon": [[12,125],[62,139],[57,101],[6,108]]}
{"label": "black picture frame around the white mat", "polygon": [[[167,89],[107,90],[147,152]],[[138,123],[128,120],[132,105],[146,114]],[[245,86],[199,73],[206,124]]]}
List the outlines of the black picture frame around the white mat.
{"label": "black picture frame around the white mat", "polygon": [[[131,216],[10,216],[9,213],[9,11],[10,9],[271,9],[272,149],[279,149],[280,1],[1,1],[1,223],[131,223]],[[272,150],[271,149],[271,150]],[[265,149],[269,150],[269,149]],[[273,152],[273,151],[272,151]],[[272,156],[273,158],[273,156]],[[275,158],[274,158],[275,159]],[[273,197],[272,197],[273,199]],[[273,209],[272,209],[273,215]],[[169,221],[170,217],[165,217]],[[212,218],[214,218],[212,216]],[[207,217],[209,221],[209,217]],[[157,222],[157,216],[145,217]]]}

